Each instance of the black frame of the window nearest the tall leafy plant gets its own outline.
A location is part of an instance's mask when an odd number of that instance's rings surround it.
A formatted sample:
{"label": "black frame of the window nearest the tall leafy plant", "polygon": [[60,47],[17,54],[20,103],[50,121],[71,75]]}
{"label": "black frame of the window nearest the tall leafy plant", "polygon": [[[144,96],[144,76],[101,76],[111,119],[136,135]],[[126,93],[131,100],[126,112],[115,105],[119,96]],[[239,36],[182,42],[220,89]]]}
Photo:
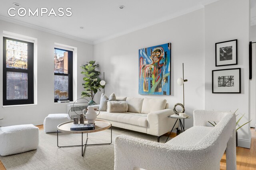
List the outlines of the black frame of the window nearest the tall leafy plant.
{"label": "black frame of the window nearest the tall leafy plant", "polygon": [[[73,101],[73,51],[67,49],[61,49],[61,47],[54,47],[54,50],[61,50],[68,52],[68,74],[66,73],[56,73],[54,72],[54,76],[68,76],[68,100],[70,102]],[[57,103],[58,99],[54,98],[54,103]]]}

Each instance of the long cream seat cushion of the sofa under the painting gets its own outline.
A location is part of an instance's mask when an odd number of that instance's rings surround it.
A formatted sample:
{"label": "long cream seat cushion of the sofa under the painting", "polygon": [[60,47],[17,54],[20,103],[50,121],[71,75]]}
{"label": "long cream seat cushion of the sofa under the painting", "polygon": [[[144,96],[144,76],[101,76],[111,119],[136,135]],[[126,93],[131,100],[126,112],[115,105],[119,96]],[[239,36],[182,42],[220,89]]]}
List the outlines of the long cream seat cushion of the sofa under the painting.
{"label": "long cream seat cushion of the sofa under the painting", "polygon": [[97,118],[147,127],[147,115],[142,113],[110,113],[107,111],[100,111]]}

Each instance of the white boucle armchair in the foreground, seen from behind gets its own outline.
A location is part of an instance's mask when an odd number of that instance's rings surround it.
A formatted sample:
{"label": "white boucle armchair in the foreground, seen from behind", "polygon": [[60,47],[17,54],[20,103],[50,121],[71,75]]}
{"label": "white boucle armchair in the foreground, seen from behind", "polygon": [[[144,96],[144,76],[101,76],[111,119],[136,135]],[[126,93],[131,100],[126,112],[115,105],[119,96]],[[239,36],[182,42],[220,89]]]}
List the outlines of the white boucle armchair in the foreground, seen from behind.
{"label": "white boucle armchair in the foreground, seen from behind", "polygon": [[[194,126],[167,143],[120,135],[115,139],[115,170],[219,170],[226,150],[227,170],[236,170],[236,116],[194,111]],[[206,127],[207,121],[218,122]]]}

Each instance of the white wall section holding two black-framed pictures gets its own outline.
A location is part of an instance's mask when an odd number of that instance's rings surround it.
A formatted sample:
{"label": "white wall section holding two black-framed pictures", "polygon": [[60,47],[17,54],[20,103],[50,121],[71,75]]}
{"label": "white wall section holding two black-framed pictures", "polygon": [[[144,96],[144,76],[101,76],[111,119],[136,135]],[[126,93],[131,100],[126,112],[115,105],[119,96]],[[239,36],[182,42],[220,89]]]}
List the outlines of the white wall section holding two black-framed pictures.
{"label": "white wall section holding two black-framed pictures", "polygon": [[[215,66],[215,43],[238,39],[238,65]],[[221,0],[205,6],[205,108],[249,115],[249,0]],[[241,68],[241,94],[212,94],[212,70]],[[240,116],[238,116],[240,117]],[[238,130],[238,146],[250,148],[250,129]]]}

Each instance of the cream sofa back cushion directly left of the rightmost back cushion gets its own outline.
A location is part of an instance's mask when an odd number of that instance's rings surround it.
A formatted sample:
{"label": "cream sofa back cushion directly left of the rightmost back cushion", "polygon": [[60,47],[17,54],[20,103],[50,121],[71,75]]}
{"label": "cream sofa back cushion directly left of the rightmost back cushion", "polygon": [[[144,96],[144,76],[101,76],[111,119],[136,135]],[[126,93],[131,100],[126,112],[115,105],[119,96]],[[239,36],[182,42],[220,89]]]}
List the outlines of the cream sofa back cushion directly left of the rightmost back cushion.
{"label": "cream sofa back cushion directly left of the rightmost back cushion", "polygon": [[144,98],[126,98],[128,104],[128,112],[141,113],[142,102]]}

